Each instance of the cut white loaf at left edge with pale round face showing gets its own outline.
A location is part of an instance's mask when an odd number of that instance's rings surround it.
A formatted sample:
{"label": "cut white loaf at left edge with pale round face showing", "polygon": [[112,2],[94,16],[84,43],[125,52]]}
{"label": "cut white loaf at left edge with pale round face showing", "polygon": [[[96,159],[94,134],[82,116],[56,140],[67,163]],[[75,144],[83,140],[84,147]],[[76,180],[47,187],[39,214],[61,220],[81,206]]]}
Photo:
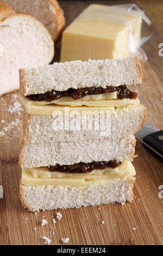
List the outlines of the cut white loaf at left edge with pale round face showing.
{"label": "cut white loaf at left edge with pale round face showing", "polygon": [[54,43],[40,21],[26,14],[16,14],[0,1],[0,96],[18,90],[18,69],[51,62]]}

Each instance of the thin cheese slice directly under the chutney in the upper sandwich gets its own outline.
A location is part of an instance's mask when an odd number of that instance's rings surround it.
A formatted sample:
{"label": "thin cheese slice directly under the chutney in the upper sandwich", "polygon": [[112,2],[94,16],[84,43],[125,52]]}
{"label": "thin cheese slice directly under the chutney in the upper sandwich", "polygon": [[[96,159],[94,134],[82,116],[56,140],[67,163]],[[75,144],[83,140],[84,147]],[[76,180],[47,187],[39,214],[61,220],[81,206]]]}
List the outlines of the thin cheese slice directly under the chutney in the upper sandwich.
{"label": "thin cheese slice directly under the chutney in the upper sandwich", "polygon": [[[96,95],[86,95],[80,99],[75,100],[76,102],[80,102],[82,100],[102,100],[102,99],[116,99],[117,98],[117,92],[110,92],[110,93],[102,93],[102,94],[96,94]],[[71,102],[74,101],[72,97],[62,97],[57,100],[52,100],[51,102],[46,102],[46,100],[29,100],[29,104],[32,105],[47,105],[47,104],[58,104],[62,102]],[[60,104],[64,105],[64,104]]]}

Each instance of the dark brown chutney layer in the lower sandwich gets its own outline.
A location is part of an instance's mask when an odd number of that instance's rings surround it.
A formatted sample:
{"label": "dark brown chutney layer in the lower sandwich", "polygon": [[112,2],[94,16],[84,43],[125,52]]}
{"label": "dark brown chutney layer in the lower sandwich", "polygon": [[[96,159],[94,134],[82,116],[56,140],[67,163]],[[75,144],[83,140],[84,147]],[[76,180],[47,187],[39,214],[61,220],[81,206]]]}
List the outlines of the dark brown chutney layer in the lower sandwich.
{"label": "dark brown chutney layer in the lower sandwich", "polygon": [[74,173],[86,173],[88,171],[93,171],[94,169],[104,170],[105,168],[116,168],[122,162],[117,162],[116,160],[110,160],[109,162],[99,161],[99,162],[91,162],[91,163],[83,163],[80,162],[78,164],[72,165],[60,165],[56,164],[55,166],[49,166],[49,171],[59,171],[59,172],[68,172],[70,174]]}

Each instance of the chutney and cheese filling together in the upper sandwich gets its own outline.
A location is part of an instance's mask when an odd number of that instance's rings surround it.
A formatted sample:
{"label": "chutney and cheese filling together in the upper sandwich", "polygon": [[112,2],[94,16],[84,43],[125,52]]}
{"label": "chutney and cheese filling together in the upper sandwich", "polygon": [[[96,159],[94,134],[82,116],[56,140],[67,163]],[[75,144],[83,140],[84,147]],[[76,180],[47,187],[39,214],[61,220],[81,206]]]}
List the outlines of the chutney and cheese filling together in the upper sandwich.
{"label": "chutney and cheese filling together in the upper sandwich", "polygon": [[[126,85],[103,87],[86,87],[82,89],[69,88],[67,91],[51,91],[40,94],[30,94],[22,98],[22,102],[29,114],[51,115],[53,111],[61,111],[64,106],[88,106],[97,111],[108,110],[112,113],[115,108],[126,105],[138,105],[139,99],[135,92],[131,92]],[[57,105],[61,109],[55,109]],[[42,109],[42,106],[45,109]],[[101,108],[107,109],[101,109]],[[109,108],[109,109],[108,109]],[[111,109],[112,108],[112,109]],[[71,109],[70,109],[71,110]],[[79,112],[87,109],[75,109]],[[89,109],[90,110],[90,109]]]}

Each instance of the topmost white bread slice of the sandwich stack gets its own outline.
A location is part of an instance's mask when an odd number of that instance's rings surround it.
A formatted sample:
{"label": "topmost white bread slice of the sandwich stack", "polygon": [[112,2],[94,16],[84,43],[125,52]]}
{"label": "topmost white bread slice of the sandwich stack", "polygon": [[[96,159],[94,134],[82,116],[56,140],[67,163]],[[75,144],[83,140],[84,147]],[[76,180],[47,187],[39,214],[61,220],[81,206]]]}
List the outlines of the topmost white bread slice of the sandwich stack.
{"label": "topmost white bread slice of the sandwich stack", "polygon": [[24,96],[68,88],[136,85],[141,81],[138,57],[55,62],[49,66],[20,69],[20,86]]}

